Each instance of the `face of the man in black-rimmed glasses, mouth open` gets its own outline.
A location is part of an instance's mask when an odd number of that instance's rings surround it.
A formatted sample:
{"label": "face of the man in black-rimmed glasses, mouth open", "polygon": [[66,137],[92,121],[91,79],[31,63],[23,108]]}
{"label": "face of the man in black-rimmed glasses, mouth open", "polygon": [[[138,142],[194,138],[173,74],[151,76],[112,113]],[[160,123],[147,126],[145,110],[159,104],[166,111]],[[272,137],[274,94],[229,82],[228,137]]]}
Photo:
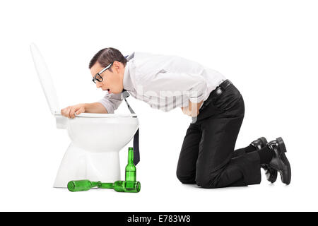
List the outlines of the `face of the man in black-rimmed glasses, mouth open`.
{"label": "face of the man in black-rimmed glasses, mouth open", "polygon": [[[114,61],[110,69],[102,72],[102,82],[96,81],[96,87],[101,88],[102,90],[108,90],[108,93],[122,93],[123,90],[123,78],[124,78],[124,64],[119,61]],[[104,67],[100,63],[96,62],[91,68],[90,73],[92,77],[102,71]]]}

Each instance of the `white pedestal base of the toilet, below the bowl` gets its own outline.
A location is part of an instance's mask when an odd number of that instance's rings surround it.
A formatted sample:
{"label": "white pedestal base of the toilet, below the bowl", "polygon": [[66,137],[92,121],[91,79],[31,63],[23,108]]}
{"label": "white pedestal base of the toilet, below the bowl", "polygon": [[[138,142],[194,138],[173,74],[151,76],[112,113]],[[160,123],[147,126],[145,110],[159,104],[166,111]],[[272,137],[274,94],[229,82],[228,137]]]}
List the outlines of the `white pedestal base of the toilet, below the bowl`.
{"label": "white pedestal base of the toilet, below the bowl", "polygon": [[67,188],[69,181],[80,179],[89,179],[92,182],[120,180],[119,150],[96,153],[71,143],[61,161],[53,186]]}

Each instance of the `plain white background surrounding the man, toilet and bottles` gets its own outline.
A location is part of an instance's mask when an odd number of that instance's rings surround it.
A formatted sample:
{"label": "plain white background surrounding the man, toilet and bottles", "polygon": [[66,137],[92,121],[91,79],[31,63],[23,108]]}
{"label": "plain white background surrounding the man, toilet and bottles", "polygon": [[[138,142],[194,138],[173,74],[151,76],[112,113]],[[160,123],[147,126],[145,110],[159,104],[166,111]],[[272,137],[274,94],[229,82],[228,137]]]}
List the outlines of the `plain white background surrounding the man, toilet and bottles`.
{"label": "plain white background surrounding the man, toilet and bottles", "polygon": [[[317,10],[317,1],[304,0],[1,1],[0,210],[318,210]],[[176,54],[220,71],[245,99],[236,148],[260,136],[283,137],[290,186],[279,176],[269,184],[263,171],[261,184],[248,187],[181,184],[175,172],[191,118],[129,97],[140,121],[141,192],[54,189],[70,139],[49,112],[31,42],[47,61],[60,107],[104,95],[88,62],[105,47]],[[129,113],[124,102],[116,113]],[[120,152],[122,179],[131,145]]]}

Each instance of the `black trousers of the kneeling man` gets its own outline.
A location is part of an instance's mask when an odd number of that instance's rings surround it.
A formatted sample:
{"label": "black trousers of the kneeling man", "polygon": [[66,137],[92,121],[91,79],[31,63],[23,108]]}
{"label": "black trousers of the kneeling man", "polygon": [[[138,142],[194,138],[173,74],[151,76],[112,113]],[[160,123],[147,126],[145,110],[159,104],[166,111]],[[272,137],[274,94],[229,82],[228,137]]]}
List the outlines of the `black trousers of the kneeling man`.
{"label": "black trousers of the kneeling man", "polygon": [[220,95],[211,92],[184,137],[177,165],[180,182],[211,189],[261,182],[258,153],[234,150],[244,114],[244,100],[233,84]]}

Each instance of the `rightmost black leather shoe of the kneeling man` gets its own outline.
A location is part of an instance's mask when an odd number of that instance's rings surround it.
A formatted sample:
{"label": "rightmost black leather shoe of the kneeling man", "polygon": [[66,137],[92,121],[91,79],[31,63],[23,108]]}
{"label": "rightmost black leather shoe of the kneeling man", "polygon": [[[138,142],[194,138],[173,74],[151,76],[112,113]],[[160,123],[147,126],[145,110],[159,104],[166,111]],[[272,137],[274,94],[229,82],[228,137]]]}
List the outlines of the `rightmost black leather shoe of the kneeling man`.
{"label": "rightmost black leather shoe of the kneeling man", "polygon": [[285,155],[286,147],[283,138],[278,137],[276,140],[266,144],[271,150],[273,150],[273,158],[269,162],[269,167],[276,169],[281,174],[281,182],[284,184],[290,184],[291,169],[288,159]]}

